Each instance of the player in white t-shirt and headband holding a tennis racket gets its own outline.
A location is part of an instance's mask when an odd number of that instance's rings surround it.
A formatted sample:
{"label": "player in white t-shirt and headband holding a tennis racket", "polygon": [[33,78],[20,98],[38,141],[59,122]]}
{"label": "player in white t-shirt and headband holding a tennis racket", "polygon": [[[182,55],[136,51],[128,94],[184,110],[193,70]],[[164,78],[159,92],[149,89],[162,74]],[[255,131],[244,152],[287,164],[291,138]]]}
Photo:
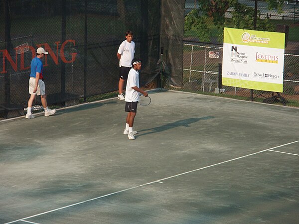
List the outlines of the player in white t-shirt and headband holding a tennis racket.
{"label": "player in white t-shirt and headband holding a tennis racket", "polygon": [[137,104],[140,99],[140,93],[145,97],[148,93],[139,88],[139,70],[141,69],[141,60],[134,58],[132,61],[132,69],[129,72],[126,87],[126,107],[128,112],[126,119],[126,128],[124,134],[128,134],[128,138],[134,140],[137,131],[133,130],[134,118],[137,113]]}

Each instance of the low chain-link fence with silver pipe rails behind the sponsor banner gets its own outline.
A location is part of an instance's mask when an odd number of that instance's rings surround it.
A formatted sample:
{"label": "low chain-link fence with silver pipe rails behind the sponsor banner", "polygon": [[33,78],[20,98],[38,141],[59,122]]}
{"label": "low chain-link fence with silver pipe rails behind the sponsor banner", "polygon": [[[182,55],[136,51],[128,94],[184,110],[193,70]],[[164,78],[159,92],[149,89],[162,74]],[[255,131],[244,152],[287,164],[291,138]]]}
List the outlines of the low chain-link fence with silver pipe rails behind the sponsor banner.
{"label": "low chain-link fence with silver pipe rails behind the sponsor banner", "polygon": [[[226,96],[237,96],[240,99],[249,100],[251,90],[229,86],[219,86],[219,66],[222,66],[221,45],[184,43],[183,78],[182,86],[169,84],[167,88],[172,90],[225,94]],[[289,105],[299,106],[299,55],[285,54],[284,66],[284,91],[281,94]],[[221,81],[220,81],[221,85]],[[220,88],[219,88],[220,87]],[[220,90],[219,90],[220,89]],[[254,97],[269,99],[273,96],[271,92],[254,90]]]}

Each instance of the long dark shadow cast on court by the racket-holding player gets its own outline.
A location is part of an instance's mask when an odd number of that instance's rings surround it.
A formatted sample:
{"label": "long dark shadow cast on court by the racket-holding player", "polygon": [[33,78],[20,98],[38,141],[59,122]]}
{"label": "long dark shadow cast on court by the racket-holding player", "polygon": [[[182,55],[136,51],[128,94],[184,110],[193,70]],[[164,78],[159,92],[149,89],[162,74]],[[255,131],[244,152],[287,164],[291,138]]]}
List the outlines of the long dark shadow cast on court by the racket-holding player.
{"label": "long dark shadow cast on court by the racket-holding player", "polygon": [[[193,117],[193,118],[187,118],[187,119],[182,119],[182,120],[177,120],[175,122],[172,123],[167,123],[158,127],[153,127],[153,128],[148,128],[148,129],[143,129],[140,130],[138,134],[138,137],[143,136],[143,135],[147,135],[147,134],[153,134],[153,133],[157,133],[157,132],[161,132],[161,131],[165,131],[165,130],[169,130],[175,127],[190,127],[190,124],[198,122],[199,120],[207,120],[207,119],[212,119],[215,118],[214,116],[204,116],[204,117]],[[149,132],[147,132],[149,131]],[[146,133],[142,133],[142,132],[146,132]]]}

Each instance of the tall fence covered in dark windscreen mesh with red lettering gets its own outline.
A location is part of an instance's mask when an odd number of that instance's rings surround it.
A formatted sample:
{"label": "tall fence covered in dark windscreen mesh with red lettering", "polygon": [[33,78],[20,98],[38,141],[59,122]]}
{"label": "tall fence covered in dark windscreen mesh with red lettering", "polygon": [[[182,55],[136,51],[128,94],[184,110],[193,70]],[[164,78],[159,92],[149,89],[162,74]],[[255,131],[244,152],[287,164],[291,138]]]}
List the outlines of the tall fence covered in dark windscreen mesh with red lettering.
{"label": "tall fence covered in dark windscreen mesh with red lettering", "polygon": [[165,56],[171,44],[183,47],[184,0],[0,0],[0,10],[0,119],[23,115],[38,47],[49,52],[43,76],[52,108],[117,96],[116,54],[127,30],[143,60],[141,86],[158,74],[161,44]]}

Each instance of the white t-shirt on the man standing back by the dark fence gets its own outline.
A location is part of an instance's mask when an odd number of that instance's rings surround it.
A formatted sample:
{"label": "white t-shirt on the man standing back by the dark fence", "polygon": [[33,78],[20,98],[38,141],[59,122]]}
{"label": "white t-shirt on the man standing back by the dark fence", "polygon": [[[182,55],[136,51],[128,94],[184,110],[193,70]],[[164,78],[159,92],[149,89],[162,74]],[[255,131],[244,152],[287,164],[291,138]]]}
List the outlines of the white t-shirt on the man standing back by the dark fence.
{"label": "white t-shirt on the man standing back by the dark fence", "polygon": [[134,41],[131,41],[129,43],[127,40],[124,40],[117,53],[119,53],[121,56],[120,60],[120,67],[131,67],[132,66],[132,60],[134,58],[134,53],[135,53],[135,43]]}

